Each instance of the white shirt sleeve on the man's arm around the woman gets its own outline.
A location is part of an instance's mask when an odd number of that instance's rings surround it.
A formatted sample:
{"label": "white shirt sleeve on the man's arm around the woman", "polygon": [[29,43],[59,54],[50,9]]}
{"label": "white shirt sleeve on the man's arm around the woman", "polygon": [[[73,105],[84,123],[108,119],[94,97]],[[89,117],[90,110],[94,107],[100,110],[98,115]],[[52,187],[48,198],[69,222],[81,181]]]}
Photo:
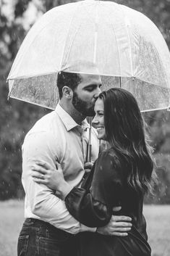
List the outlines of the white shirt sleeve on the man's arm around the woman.
{"label": "white shirt sleeve on the man's arm around the woman", "polygon": [[[56,143],[56,141],[55,141]],[[56,168],[58,152],[54,148],[54,138],[46,131],[28,134],[22,146],[22,184],[25,189],[25,209],[27,215],[34,215],[56,228],[71,234],[82,231],[95,231],[96,228],[84,226],[70,215],[64,201],[56,197],[55,191],[46,185],[33,181],[31,167],[35,160],[48,162]]]}

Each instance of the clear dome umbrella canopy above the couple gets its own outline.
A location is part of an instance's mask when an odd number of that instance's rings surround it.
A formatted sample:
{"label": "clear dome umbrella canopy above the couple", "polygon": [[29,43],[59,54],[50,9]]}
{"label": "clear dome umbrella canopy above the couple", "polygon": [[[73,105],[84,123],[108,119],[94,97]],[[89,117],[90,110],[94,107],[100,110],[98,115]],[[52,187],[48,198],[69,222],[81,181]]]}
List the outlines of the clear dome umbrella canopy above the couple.
{"label": "clear dome umbrella canopy above the couple", "polygon": [[110,1],[78,1],[46,12],[27,33],[7,78],[9,96],[54,109],[59,71],[99,73],[103,89],[131,91],[140,110],[163,109],[169,67],[169,49],[148,17]]}

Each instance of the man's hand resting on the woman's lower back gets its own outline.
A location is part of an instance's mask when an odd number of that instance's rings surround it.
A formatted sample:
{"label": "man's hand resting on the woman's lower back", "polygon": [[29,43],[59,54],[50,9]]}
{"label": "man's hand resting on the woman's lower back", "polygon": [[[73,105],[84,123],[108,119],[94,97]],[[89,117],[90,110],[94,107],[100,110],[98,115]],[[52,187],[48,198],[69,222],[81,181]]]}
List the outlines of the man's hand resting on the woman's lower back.
{"label": "man's hand resting on the woman's lower back", "polygon": [[97,228],[96,232],[106,236],[127,236],[127,232],[131,230],[132,218],[127,216],[112,215],[110,222],[104,226]]}

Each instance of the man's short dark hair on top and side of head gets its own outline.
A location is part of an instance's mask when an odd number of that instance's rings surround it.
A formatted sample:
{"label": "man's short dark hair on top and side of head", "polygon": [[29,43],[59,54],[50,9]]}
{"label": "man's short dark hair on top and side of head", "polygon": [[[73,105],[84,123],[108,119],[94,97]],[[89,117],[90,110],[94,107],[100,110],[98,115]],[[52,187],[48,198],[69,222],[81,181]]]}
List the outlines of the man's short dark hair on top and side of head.
{"label": "man's short dark hair on top and side of head", "polygon": [[57,86],[59,88],[59,99],[62,98],[62,88],[64,86],[68,86],[72,89],[72,91],[75,91],[75,88],[77,88],[78,84],[81,82],[80,75],[77,73],[67,73],[67,72],[59,72],[57,76]]}

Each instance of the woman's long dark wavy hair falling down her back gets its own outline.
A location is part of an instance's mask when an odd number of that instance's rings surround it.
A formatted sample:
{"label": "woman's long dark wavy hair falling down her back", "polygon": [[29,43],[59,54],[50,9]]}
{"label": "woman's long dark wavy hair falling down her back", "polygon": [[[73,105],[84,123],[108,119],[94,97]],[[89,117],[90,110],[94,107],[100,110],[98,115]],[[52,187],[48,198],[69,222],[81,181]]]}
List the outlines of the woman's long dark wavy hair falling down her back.
{"label": "woman's long dark wavy hair falling down her back", "polygon": [[152,191],[152,148],[135,97],[122,88],[111,88],[99,98],[104,102],[106,139],[127,164],[128,185],[142,194]]}

